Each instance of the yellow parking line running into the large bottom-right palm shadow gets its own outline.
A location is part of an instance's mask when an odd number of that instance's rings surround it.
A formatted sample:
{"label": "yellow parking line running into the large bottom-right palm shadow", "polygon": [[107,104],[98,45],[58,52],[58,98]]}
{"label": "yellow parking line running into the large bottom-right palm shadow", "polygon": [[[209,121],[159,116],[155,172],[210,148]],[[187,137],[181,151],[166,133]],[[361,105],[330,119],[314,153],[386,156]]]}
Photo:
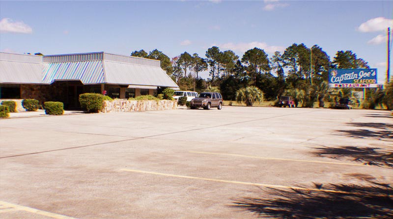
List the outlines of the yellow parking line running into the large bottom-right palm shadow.
{"label": "yellow parking line running into the large bottom-right palm shadow", "polygon": [[204,177],[186,176],[186,175],[175,175],[175,174],[151,172],[151,171],[143,171],[143,170],[121,169],[121,171],[148,173],[148,174],[153,174],[153,175],[170,176],[170,177],[185,178],[185,179],[197,179],[197,180],[205,180],[205,181],[213,181],[213,182],[243,184],[243,185],[252,185],[252,186],[263,186],[263,187],[268,187],[268,188],[297,189],[297,190],[322,191],[322,192],[329,192],[329,193],[344,193],[344,194],[346,194],[346,192],[335,191],[335,190],[309,189],[309,188],[303,188],[303,187],[281,186],[281,185],[274,185],[274,184],[240,182],[240,181],[231,181],[231,180],[224,180],[224,179],[204,178]]}

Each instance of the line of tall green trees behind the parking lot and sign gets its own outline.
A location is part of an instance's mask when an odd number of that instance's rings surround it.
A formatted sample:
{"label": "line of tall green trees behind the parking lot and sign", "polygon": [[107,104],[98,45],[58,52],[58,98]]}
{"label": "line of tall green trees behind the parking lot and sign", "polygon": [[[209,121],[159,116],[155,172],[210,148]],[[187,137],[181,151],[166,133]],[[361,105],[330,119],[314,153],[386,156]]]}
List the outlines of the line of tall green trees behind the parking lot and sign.
{"label": "line of tall green trees behind the parking lot and sign", "polygon": [[[314,101],[320,101],[323,105],[328,97],[354,96],[352,90],[329,89],[329,69],[369,68],[364,59],[350,50],[337,51],[331,60],[318,45],[308,48],[303,43],[294,43],[282,54],[276,51],[271,57],[259,48],[249,49],[240,57],[232,50],[221,51],[215,46],[207,49],[203,57],[185,51],[169,58],[158,49],[149,53],[143,49],[136,50],[131,56],[160,60],[161,68],[181,90],[199,93],[220,91],[224,99],[235,100],[238,90],[256,87],[262,91],[265,100],[289,95],[294,97],[296,105],[301,102],[303,106],[311,106]],[[200,77],[199,73],[204,71],[209,72],[210,78]],[[372,96],[378,91],[369,89],[368,92]]]}

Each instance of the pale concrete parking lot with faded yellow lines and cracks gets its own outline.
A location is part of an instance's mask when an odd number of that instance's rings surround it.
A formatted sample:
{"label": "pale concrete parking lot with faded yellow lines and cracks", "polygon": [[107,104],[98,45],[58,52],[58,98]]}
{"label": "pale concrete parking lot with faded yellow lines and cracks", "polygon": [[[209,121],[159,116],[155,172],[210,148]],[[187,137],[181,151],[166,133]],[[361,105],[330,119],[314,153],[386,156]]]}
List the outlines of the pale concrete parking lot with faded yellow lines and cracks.
{"label": "pale concrete parking lot with faded yellow lines and cracks", "polygon": [[393,182],[383,164],[323,152],[392,151],[388,111],[225,106],[2,119],[0,128],[2,219],[257,218],[234,201],[267,187]]}

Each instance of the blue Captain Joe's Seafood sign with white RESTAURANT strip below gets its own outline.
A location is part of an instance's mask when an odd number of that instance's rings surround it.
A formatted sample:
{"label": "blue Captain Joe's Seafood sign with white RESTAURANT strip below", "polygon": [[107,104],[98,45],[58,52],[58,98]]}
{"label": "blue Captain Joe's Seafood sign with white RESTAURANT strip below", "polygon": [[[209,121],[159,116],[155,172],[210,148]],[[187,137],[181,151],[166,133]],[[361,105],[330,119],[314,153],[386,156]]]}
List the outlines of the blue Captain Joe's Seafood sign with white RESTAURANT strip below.
{"label": "blue Captain Joe's Seafood sign with white RESTAURANT strip below", "polygon": [[376,88],[377,69],[331,69],[330,87]]}

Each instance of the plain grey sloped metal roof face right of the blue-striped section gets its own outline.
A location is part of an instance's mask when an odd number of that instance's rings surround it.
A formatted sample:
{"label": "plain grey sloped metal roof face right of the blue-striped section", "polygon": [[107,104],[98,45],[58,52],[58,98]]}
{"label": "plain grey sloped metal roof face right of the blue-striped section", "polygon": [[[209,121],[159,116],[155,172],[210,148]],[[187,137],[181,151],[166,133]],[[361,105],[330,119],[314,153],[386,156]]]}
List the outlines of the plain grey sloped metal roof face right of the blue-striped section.
{"label": "plain grey sloped metal roof face right of the blue-striped section", "polygon": [[104,61],[106,82],[110,84],[178,87],[159,67]]}

